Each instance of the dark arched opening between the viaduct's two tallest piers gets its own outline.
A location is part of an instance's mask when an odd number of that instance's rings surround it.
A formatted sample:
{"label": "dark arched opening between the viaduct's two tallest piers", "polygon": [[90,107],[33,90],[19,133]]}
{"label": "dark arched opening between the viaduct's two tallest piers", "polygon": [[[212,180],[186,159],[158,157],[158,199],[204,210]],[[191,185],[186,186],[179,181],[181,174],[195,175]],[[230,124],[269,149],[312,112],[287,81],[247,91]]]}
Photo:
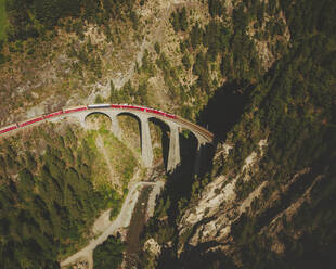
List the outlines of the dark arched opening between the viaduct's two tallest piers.
{"label": "dark arched opening between the viaduct's two tallest piers", "polygon": [[[171,128],[169,126],[169,123],[167,123],[166,120],[155,117],[155,116],[151,116],[148,117],[148,123],[150,126],[151,124],[158,126],[158,128],[161,131],[161,137],[160,137],[160,141],[159,141],[159,148],[161,150],[161,157],[163,157],[163,162],[164,162],[164,167],[167,170],[168,168],[168,158],[169,158],[169,143],[170,143],[170,133],[171,133]],[[151,128],[150,128],[151,129]],[[153,128],[151,129],[152,133],[153,133]],[[153,144],[153,149],[154,149],[154,157],[157,157],[155,155],[155,144],[154,142],[154,137],[151,134],[152,137],[152,144]]]}

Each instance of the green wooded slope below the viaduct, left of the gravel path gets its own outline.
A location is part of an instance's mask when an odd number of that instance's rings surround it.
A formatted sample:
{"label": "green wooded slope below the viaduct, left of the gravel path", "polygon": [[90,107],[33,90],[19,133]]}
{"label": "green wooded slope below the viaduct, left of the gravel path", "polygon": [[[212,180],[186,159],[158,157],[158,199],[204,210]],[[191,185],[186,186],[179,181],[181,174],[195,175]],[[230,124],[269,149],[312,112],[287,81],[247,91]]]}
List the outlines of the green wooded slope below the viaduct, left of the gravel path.
{"label": "green wooded slope below the viaduct, left of the gravel path", "polygon": [[[75,127],[44,124],[24,132],[0,142],[1,265],[57,268],[57,260],[88,242],[101,210],[119,212],[137,162],[104,129],[86,134]],[[116,166],[115,178],[103,165],[96,136],[113,149],[108,154],[125,161]]]}

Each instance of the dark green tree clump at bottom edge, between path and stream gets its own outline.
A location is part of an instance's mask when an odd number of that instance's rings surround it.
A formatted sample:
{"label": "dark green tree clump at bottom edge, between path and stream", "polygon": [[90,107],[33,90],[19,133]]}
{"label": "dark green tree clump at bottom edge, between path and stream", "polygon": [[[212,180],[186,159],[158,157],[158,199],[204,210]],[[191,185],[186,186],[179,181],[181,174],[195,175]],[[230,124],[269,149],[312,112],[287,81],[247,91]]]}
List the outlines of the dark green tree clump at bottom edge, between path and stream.
{"label": "dark green tree clump at bottom edge, between path and stream", "polygon": [[122,253],[125,248],[125,243],[121,242],[120,238],[109,235],[103,244],[94,248],[94,268],[119,268],[122,262]]}

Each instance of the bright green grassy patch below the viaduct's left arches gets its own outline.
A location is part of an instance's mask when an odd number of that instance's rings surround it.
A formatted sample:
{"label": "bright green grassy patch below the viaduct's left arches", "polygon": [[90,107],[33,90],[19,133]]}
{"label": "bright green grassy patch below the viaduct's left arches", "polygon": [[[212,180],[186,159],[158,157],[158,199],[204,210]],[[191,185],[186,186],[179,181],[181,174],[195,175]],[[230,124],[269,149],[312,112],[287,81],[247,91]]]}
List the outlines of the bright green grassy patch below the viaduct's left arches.
{"label": "bright green grassy patch below the viaduct's left arches", "polygon": [[93,114],[87,118],[87,121],[95,127],[86,136],[89,148],[96,156],[92,164],[96,172],[94,181],[108,198],[107,207],[111,208],[111,219],[113,219],[121,209],[122,201],[128,193],[128,182],[133,177],[139,163],[132,152],[108,131],[111,121],[106,116]]}

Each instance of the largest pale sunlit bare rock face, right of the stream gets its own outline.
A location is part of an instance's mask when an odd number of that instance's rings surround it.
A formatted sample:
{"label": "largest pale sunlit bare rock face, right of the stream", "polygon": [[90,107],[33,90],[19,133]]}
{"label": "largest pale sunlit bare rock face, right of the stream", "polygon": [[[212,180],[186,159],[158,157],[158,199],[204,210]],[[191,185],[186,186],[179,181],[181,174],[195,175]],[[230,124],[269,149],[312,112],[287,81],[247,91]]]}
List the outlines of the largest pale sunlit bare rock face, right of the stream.
{"label": "largest pale sunlit bare rock face, right of the stream", "polygon": [[[259,150],[263,149],[267,144],[266,141],[260,140]],[[217,157],[220,155],[228,155],[227,144],[219,148]],[[241,177],[243,177],[243,181],[249,180],[250,174],[253,174],[261,156],[262,151],[258,157],[257,153],[253,152],[245,159],[244,166],[236,177],[221,175],[204,188],[199,198],[191,208],[185,210],[179,222],[180,236],[193,230],[189,236],[189,245],[196,246],[212,241],[228,243],[231,240],[231,225],[250,207],[251,202],[260,196],[262,189],[267,185],[267,181],[260,182],[245,200],[240,201],[237,198],[235,190],[237,180]]]}

